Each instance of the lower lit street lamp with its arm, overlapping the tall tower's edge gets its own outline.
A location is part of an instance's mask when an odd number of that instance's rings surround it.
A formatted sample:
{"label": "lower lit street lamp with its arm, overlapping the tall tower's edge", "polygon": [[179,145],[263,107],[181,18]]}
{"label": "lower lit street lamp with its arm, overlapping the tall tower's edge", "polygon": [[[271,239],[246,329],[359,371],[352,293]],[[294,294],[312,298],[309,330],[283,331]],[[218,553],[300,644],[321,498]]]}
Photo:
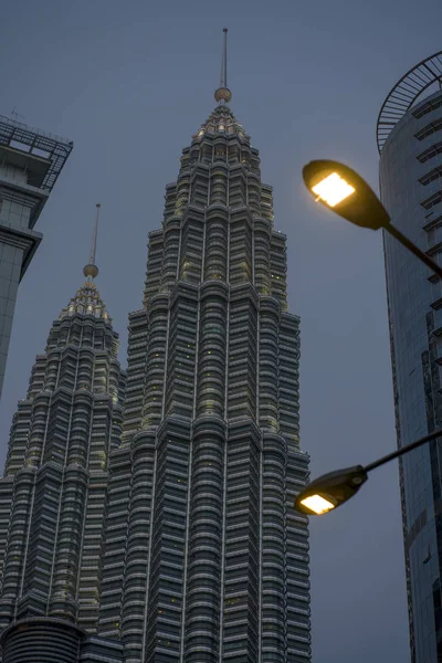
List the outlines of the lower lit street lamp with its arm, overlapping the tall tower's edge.
{"label": "lower lit street lamp with its arm, overlapping the tall tower's edge", "polygon": [[295,509],[307,514],[307,516],[323,516],[327,514],[356,495],[360,486],[367,481],[368,473],[371,470],[376,470],[376,467],[380,467],[409,451],[418,449],[418,446],[425,444],[425,442],[440,436],[442,436],[442,429],[438,429],[433,433],[429,433],[424,438],[411,442],[411,444],[401,446],[369,465],[356,465],[355,467],[346,467],[345,470],[323,474],[323,476],[315,478],[315,481],[298,493],[295,498]]}

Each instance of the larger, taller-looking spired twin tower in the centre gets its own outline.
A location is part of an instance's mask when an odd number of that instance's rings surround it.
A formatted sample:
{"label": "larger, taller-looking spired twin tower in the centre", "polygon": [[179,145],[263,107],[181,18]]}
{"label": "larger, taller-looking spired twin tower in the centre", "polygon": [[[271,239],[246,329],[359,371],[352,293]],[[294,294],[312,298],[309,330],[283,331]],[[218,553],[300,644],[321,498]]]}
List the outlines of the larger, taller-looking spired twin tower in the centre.
{"label": "larger, taller-looking spired twin tower in the centre", "polygon": [[257,149],[227,103],[167,186],[130,315],[98,633],[127,663],[307,663],[299,319]]}

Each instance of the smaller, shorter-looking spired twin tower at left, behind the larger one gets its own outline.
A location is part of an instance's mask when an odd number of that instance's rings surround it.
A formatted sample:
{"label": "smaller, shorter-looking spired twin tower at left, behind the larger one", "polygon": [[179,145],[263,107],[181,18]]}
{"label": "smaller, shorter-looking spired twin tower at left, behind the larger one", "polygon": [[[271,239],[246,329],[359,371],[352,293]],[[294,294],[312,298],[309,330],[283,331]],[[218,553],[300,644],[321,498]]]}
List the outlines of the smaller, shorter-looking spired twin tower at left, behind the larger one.
{"label": "smaller, shorter-looking spired twin tower at left, behind the larger one", "polygon": [[42,663],[76,661],[83,633],[96,632],[108,463],[126,380],[94,283],[97,222],[98,208],[86,282],[36,357],[0,478],[0,630],[21,623],[4,662],[28,660],[23,651]]}

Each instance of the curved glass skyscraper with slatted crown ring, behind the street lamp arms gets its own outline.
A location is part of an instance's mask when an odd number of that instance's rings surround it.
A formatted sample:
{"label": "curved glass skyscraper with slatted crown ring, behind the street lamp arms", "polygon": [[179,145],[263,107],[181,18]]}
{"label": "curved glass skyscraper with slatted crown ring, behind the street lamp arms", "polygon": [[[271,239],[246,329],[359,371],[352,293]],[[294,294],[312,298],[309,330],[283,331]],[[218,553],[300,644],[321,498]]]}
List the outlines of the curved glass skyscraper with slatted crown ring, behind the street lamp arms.
{"label": "curved glass skyscraper with slatted crown ring, behind the street lamp arms", "polygon": [[[378,119],[380,189],[394,225],[441,264],[442,52],[410,70]],[[442,283],[385,233],[398,445],[442,427]],[[400,462],[412,663],[442,661],[441,441]]]}

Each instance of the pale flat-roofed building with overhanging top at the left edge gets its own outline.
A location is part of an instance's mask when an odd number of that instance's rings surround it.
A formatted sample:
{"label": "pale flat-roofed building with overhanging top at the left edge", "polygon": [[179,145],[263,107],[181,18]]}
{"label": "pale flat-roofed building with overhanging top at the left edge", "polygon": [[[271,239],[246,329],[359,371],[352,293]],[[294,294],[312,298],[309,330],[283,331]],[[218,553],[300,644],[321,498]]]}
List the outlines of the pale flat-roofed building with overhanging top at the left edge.
{"label": "pale flat-roofed building with overhanging top at the left edge", "polygon": [[17,291],[43,236],[34,227],[72,148],[0,116],[0,396]]}

